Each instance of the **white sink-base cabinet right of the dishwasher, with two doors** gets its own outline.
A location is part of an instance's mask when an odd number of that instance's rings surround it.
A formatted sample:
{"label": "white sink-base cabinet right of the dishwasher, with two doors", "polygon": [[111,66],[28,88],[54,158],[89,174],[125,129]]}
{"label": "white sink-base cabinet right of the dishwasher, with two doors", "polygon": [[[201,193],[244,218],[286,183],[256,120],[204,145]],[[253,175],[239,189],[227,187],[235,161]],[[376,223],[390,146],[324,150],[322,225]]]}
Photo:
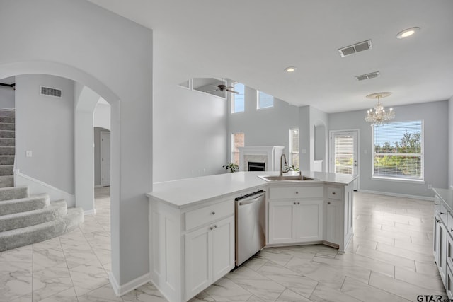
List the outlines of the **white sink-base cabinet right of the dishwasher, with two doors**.
{"label": "white sink-base cabinet right of the dishwasher, with two doors", "polygon": [[323,239],[323,186],[270,187],[268,192],[268,244]]}

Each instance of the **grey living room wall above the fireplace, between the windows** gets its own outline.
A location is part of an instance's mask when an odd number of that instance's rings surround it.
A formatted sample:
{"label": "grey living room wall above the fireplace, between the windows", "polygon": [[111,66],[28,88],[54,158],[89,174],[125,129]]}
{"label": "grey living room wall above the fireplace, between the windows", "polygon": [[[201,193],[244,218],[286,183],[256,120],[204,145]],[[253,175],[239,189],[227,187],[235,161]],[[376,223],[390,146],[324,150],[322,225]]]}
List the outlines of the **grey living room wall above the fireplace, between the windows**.
{"label": "grey living room wall above the fireplace, between the windows", "polygon": [[[285,146],[289,156],[289,129],[299,127],[299,109],[274,98],[274,107],[256,109],[256,89],[246,86],[244,112],[231,113],[228,103],[228,154],[231,161],[231,134],[243,132],[245,146]],[[226,171],[225,171],[226,172]]]}

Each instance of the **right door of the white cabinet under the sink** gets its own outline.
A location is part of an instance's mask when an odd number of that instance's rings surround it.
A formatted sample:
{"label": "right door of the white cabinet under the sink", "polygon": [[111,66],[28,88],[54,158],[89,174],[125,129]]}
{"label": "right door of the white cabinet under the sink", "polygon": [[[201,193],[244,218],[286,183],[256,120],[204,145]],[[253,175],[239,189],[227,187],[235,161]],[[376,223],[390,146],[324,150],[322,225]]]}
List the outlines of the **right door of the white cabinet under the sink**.
{"label": "right door of the white cabinet under the sink", "polygon": [[294,208],[295,241],[303,243],[323,240],[323,201],[297,201]]}

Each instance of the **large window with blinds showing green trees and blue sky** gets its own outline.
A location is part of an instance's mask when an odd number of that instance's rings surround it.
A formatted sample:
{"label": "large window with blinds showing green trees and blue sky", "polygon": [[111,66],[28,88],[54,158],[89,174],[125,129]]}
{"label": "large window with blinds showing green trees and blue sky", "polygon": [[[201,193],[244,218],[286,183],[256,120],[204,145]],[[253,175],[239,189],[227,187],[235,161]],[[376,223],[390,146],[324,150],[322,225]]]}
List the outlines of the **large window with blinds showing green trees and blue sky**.
{"label": "large window with blinds showing green trees and blue sky", "polygon": [[373,177],[423,180],[423,121],[373,126]]}

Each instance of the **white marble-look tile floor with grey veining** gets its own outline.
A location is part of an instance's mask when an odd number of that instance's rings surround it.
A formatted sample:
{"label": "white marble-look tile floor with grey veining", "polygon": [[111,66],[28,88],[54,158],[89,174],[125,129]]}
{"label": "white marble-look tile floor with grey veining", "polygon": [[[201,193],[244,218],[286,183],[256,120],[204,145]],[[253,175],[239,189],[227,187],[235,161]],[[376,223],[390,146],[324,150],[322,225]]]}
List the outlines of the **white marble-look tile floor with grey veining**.
{"label": "white marble-look tile floor with grey veining", "polygon": [[[0,253],[0,301],[166,301],[152,284],[113,293],[108,190],[96,189],[96,214],[76,230]],[[447,298],[432,256],[432,216],[432,202],[356,192],[345,254],[325,245],[266,248],[191,302]]]}

